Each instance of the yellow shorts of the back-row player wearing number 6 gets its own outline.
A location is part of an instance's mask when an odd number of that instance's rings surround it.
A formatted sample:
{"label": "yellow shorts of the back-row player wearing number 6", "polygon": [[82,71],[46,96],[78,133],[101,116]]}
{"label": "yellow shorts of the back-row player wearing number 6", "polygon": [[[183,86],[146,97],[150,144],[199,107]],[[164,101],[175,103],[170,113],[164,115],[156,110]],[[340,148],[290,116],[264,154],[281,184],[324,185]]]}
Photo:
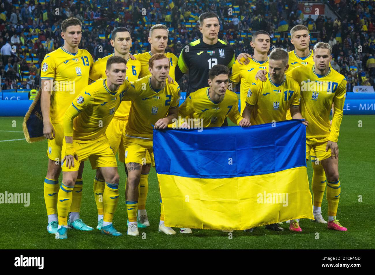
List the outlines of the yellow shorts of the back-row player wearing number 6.
{"label": "yellow shorts of the back-row player wearing number 6", "polygon": [[[111,120],[110,125],[108,125],[105,134],[107,135],[108,140],[110,141],[110,146],[113,150],[113,153],[116,155],[118,152],[118,160],[121,162],[125,162],[125,126],[127,124],[126,119],[118,119],[113,117]],[[146,154],[146,164],[151,163],[150,154],[147,152]]]}

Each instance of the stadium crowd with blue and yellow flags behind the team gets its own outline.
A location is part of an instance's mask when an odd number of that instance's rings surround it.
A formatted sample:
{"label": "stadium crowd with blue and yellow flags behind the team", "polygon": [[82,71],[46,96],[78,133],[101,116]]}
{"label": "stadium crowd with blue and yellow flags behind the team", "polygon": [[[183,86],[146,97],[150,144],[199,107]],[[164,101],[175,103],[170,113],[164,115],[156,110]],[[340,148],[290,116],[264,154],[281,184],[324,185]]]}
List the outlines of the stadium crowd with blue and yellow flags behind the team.
{"label": "stadium crowd with blue and yellow flags behind the team", "polygon": [[[0,5],[1,88],[39,88],[40,63],[45,54],[63,45],[60,24],[71,16],[83,23],[80,48],[96,60],[113,51],[110,33],[119,26],[132,31],[132,54],[148,51],[153,24],[169,27],[166,52],[178,56],[184,45],[201,37],[197,22],[205,11],[219,15],[219,39],[233,45],[236,56],[252,54],[251,36],[258,30],[271,34],[272,45],[291,51],[288,31],[306,25],[311,49],[320,41],[332,46],[332,67],[345,75],[348,91],[355,85],[375,88],[375,1],[327,2],[341,18],[305,19],[296,0],[5,0]],[[184,91],[186,77],[179,84]]]}

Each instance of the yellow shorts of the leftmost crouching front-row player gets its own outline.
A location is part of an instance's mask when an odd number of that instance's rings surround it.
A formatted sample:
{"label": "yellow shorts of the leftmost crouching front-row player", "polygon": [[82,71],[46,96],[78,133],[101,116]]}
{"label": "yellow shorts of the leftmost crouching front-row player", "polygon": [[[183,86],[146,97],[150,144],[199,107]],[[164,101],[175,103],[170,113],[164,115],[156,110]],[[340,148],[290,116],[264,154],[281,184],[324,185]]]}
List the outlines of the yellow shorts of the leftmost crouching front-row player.
{"label": "yellow shorts of the leftmost crouching front-row player", "polygon": [[[65,156],[65,139],[63,141],[62,155]],[[74,167],[68,168],[61,163],[61,168],[64,172],[78,171],[80,163],[89,159],[91,167],[96,169],[98,167],[117,167],[116,157],[110,147],[107,139],[92,142],[92,143],[78,143],[73,141],[75,152],[77,152],[78,161],[74,159]]]}

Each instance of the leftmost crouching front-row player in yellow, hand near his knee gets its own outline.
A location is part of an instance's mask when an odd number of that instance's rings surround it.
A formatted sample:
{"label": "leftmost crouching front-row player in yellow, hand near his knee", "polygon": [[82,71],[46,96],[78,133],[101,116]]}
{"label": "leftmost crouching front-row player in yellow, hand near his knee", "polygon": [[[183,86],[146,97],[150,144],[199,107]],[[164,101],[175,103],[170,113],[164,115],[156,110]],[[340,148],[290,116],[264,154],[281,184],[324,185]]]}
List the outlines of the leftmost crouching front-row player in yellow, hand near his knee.
{"label": "leftmost crouching front-row player in yellow, hand near his knee", "polygon": [[[130,84],[125,79],[126,61],[120,56],[108,58],[107,79],[86,86],[72,102],[64,116],[62,155],[63,182],[58,191],[58,229],[56,239],[67,239],[67,216],[72,203],[72,190],[82,161],[90,160],[99,168],[104,180],[104,221],[101,232],[121,236],[112,225],[118,202],[117,161],[105,131],[120,106],[124,91]],[[77,117],[75,120],[74,118]]]}

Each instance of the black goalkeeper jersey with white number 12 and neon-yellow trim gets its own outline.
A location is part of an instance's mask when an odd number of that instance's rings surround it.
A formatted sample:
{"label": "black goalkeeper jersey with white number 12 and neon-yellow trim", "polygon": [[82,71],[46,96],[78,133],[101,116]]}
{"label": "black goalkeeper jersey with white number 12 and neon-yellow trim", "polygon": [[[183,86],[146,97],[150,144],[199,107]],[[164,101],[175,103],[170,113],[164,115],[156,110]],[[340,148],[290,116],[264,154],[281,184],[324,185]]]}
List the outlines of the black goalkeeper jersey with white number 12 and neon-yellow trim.
{"label": "black goalkeeper jersey with white number 12 and neon-yellow trim", "polygon": [[184,73],[189,73],[186,93],[189,95],[208,86],[210,68],[217,64],[232,68],[233,62],[234,50],[223,40],[219,39],[214,45],[204,43],[203,39],[195,40],[182,49],[175,68],[175,77],[178,81]]}

